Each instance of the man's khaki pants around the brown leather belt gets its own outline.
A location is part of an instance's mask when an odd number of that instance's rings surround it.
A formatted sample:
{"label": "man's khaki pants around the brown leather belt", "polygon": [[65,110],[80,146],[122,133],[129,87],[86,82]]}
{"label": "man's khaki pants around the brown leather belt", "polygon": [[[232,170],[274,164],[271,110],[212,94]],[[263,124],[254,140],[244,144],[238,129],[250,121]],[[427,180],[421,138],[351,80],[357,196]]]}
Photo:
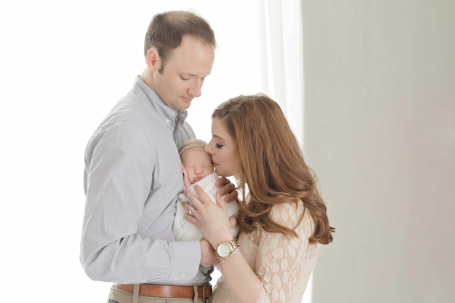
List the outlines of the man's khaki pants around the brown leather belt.
{"label": "man's khaki pants around the brown leather belt", "polygon": [[[182,284],[174,284],[182,285]],[[191,284],[186,284],[189,286]],[[202,284],[197,284],[202,286]],[[109,297],[107,298],[107,303],[193,303],[193,299],[189,298],[160,298],[160,297],[148,297],[136,295],[137,299],[134,298],[133,293],[128,293],[123,289],[120,289],[114,285],[111,287],[109,292]],[[197,298],[197,301],[194,303],[205,303],[202,301],[202,298]]]}

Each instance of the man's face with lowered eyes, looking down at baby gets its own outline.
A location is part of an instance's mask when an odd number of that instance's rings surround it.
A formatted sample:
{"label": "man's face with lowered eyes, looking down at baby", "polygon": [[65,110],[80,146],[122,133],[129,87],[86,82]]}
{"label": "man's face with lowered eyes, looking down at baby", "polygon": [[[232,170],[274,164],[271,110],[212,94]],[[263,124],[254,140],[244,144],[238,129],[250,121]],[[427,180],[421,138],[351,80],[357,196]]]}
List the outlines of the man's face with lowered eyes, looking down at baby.
{"label": "man's face with lowered eyes, looking down at baby", "polygon": [[184,37],[164,65],[163,75],[153,75],[156,93],[172,109],[187,109],[201,95],[205,77],[212,71],[215,52],[211,46]]}

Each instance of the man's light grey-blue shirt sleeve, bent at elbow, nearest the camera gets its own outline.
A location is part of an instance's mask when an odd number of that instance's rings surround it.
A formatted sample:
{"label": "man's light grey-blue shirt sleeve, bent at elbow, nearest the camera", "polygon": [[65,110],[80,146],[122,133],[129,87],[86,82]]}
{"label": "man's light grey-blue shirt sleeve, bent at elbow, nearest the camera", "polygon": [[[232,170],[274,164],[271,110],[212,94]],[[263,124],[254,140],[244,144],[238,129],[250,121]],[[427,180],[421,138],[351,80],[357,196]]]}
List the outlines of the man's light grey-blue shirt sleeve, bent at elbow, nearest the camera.
{"label": "man's light grey-blue shirt sleeve, bent at elbow, nearest the camera", "polygon": [[154,163],[146,135],[129,121],[101,128],[87,145],[80,258],[89,278],[143,283],[197,274],[198,241],[169,242],[136,234]]}

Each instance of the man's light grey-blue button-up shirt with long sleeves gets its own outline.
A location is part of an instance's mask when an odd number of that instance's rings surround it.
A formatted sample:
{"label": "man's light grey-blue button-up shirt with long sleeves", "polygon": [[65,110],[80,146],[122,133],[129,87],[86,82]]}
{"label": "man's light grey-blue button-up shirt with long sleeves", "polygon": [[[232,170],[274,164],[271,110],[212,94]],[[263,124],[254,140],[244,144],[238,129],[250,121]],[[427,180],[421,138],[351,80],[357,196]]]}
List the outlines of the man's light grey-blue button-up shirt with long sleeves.
{"label": "man's light grey-blue button-up shirt with long sleeves", "polygon": [[101,122],[85,151],[81,264],[94,280],[204,283],[199,241],[176,242],[183,190],[178,149],[195,138],[176,111],[139,77]]}

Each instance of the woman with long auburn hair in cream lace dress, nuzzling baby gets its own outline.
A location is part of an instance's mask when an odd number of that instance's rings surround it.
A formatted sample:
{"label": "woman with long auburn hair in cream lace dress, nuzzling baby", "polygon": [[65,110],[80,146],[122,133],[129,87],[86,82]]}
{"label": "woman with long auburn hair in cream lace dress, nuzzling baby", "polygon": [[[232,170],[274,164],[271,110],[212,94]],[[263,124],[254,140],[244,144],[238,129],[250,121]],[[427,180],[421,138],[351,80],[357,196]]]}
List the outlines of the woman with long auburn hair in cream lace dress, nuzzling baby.
{"label": "woman with long auburn hair in cream lace dress, nuzzling baby", "polygon": [[332,242],[334,228],[279,105],[264,94],[220,104],[205,150],[217,174],[233,175],[243,193],[237,248],[222,199],[214,204],[198,188],[201,203],[184,191],[196,207],[185,203],[192,214],[185,218],[220,256],[222,277],[210,302],[301,302],[319,243]]}

